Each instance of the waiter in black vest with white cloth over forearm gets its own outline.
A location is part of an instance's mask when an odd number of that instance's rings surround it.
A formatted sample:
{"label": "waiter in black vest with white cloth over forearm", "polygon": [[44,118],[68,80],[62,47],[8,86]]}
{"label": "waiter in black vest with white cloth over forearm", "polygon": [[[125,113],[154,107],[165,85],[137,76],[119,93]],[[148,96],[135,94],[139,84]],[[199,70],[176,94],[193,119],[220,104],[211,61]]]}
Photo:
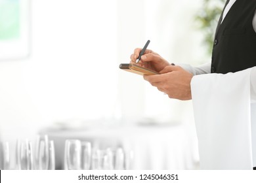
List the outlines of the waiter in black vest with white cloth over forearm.
{"label": "waiter in black vest with white cloth over forearm", "polygon": [[177,66],[152,50],[137,63],[160,73],[144,79],[170,98],[192,99],[201,169],[256,167],[255,10],[256,0],[226,2],[211,63]]}

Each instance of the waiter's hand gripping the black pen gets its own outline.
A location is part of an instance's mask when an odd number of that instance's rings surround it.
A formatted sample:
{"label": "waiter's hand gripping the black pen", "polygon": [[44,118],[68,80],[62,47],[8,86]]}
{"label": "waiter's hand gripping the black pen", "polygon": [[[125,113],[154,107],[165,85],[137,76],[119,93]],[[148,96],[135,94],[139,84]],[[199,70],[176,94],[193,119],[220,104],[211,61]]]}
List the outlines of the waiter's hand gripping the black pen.
{"label": "waiter's hand gripping the black pen", "polygon": [[[136,63],[135,61],[139,57],[141,50],[142,48],[136,48],[134,50],[134,53],[131,54],[131,63]],[[170,65],[167,60],[163,59],[159,54],[153,52],[152,50],[146,50],[144,55],[141,56],[139,63],[136,64],[157,72],[160,72],[167,65]]]}

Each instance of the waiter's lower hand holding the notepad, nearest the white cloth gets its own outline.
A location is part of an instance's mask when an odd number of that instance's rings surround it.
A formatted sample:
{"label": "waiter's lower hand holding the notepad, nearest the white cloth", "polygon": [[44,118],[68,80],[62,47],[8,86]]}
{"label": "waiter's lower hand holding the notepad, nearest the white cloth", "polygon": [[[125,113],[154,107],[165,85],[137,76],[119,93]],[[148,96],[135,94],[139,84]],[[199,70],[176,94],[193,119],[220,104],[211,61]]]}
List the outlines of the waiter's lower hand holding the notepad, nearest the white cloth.
{"label": "waiter's lower hand holding the notepad, nearest the white cloth", "polygon": [[144,75],[144,79],[166,93],[170,98],[190,100],[190,82],[193,75],[179,66],[169,65],[160,71],[160,75]]}

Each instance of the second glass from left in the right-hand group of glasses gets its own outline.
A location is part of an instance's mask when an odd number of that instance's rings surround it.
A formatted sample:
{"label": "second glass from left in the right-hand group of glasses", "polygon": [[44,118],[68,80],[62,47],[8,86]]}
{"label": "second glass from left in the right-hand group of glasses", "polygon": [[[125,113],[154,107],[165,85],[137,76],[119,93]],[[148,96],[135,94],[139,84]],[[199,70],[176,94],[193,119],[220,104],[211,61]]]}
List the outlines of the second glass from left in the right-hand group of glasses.
{"label": "second glass from left in the right-hand group of glasses", "polygon": [[81,142],[81,169],[91,168],[91,142]]}

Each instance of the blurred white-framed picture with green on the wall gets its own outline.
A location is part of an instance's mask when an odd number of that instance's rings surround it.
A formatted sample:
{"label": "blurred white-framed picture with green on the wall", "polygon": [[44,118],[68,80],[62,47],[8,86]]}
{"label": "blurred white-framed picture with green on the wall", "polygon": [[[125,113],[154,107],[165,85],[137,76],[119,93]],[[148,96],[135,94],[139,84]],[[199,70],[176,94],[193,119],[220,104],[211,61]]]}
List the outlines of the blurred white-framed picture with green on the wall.
{"label": "blurred white-framed picture with green on the wall", "polygon": [[0,0],[0,60],[30,55],[30,0]]}

